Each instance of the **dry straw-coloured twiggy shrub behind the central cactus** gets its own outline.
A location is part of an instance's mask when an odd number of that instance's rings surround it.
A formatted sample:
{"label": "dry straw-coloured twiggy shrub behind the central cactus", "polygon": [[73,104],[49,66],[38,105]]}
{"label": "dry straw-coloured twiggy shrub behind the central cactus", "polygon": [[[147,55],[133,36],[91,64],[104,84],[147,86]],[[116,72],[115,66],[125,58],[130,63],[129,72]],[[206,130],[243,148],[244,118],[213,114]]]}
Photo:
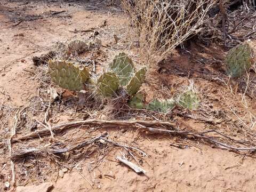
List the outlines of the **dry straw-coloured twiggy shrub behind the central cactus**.
{"label": "dry straw-coloured twiggy shrub behind the central cactus", "polygon": [[141,61],[161,61],[166,54],[202,30],[216,0],[123,0],[136,27]]}

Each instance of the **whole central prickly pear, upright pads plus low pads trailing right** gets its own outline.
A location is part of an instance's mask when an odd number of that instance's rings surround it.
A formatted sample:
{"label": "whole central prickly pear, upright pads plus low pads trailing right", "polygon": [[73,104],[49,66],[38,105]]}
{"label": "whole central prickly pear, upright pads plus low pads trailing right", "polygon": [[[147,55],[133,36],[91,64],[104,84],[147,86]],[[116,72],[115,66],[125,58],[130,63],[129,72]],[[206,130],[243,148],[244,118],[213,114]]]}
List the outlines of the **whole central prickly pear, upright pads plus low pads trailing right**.
{"label": "whole central prickly pear, upright pads plus low pads trailing right", "polygon": [[[86,67],[80,67],[74,62],[51,60],[49,61],[50,76],[52,81],[64,89],[81,91],[85,85],[91,85],[95,95],[100,98],[110,98],[117,94],[119,88],[129,95],[128,105],[131,108],[147,109],[167,113],[175,106],[195,110],[199,107],[200,99],[191,83],[188,88],[175,99],[154,99],[145,105],[145,95],[139,92],[145,81],[146,68],[136,71],[132,60],[125,53],[120,53],[109,65],[109,70],[99,75],[98,78],[90,77]],[[89,88],[90,89],[90,88]],[[91,89],[90,89],[91,90]],[[120,92],[119,92],[120,93]]]}

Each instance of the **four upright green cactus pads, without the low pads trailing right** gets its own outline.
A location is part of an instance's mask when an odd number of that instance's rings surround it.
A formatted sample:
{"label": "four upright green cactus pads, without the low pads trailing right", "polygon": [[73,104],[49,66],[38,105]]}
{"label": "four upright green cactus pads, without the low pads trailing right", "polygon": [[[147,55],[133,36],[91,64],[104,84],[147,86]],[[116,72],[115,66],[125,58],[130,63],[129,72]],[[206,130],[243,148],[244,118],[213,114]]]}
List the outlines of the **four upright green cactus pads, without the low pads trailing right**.
{"label": "four upright green cactus pads, without the low pads trailing right", "polygon": [[79,91],[85,83],[91,84],[95,93],[102,98],[114,95],[120,85],[131,97],[135,95],[145,81],[146,68],[135,71],[132,60],[120,53],[109,65],[109,71],[93,81],[87,68],[79,68],[75,63],[52,60],[49,62],[52,81],[64,89]]}

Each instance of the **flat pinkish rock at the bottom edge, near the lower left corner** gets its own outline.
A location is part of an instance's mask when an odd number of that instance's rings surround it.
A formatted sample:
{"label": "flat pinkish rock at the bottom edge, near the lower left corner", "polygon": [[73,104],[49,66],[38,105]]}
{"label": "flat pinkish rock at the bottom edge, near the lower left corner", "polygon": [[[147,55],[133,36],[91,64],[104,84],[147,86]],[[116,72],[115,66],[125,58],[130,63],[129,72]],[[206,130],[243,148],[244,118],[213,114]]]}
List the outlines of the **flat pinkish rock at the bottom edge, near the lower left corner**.
{"label": "flat pinkish rock at the bottom edge, near the lower left corner", "polygon": [[36,186],[19,186],[16,188],[16,192],[50,192],[53,189],[53,184],[50,182],[41,183],[40,185]]}

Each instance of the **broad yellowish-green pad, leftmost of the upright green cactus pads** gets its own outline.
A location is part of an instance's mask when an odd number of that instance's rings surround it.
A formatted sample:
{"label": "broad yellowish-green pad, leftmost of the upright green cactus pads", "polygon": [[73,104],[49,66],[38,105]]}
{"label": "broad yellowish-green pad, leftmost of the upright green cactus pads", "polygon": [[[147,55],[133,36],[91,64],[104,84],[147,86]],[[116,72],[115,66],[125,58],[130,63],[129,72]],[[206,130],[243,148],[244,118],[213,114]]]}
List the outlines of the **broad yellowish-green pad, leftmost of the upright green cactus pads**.
{"label": "broad yellowish-green pad, leftmost of the upright green cactus pads", "polygon": [[49,62],[50,76],[52,81],[64,89],[79,91],[89,79],[90,73],[87,68],[79,68],[72,62],[51,60]]}

